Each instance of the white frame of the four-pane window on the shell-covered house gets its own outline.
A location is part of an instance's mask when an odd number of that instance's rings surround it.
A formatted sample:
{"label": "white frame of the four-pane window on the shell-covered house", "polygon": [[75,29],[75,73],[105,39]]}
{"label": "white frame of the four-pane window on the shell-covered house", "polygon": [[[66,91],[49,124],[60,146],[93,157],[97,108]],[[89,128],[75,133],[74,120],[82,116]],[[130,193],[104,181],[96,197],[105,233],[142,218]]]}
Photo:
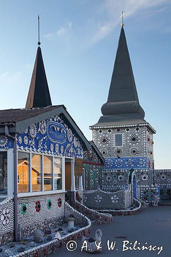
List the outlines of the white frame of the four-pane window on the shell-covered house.
{"label": "white frame of the four-pane window on the shell-covered house", "polygon": [[[18,152],[24,152],[24,153],[29,153],[29,158],[30,158],[30,167],[29,167],[29,179],[30,179],[30,192],[26,193],[18,193],[18,197],[23,197],[23,196],[34,196],[34,195],[47,195],[47,194],[56,194],[56,193],[64,193],[65,192],[65,156],[59,156],[59,155],[52,155],[48,153],[37,153],[37,152],[29,152],[29,151],[22,151],[18,150],[17,151],[17,159],[18,159]],[[32,154],[37,154],[42,156],[42,191],[39,192],[32,192]],[[50,191],[45,191],[44,190],[44,156],[49,156],[52,157],[52,190]],[[62,189],[61,190],[54,190],[54,157],[58,157],[62,159]],[[68,158],[68,157],[67,157]],[[73,158],[70,158],[73,159]],[[17,166],[17,175],[18,175],[18,166]]]}

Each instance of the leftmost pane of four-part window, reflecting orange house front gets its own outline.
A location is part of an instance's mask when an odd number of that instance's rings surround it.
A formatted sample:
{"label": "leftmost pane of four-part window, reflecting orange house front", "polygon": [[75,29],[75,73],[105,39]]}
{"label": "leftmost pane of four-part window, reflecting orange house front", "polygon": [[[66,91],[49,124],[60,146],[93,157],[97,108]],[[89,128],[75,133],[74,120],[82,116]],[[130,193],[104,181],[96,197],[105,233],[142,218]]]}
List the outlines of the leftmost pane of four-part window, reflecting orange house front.
{"label": "leftmost pane of four-part window, reflecting orange house front", "polygon": [[29,170],[29,154],[18,152],[18,193],[30,192]]}

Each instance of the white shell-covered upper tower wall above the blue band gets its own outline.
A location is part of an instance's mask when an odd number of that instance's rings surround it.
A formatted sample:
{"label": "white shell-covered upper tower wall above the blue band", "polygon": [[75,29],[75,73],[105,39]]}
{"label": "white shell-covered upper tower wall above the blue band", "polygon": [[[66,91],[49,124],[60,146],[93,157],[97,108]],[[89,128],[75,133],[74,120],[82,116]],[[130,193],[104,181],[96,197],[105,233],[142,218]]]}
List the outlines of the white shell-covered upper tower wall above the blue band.
{"label": "white shell-covered upper tower wall above the blue band", "polygon": [[[115,147],[115,134],[123,134],[122,147]],[[146,126],[94,129],[93,141],[103,157],[144,156],[153,159],[153,134]]]}

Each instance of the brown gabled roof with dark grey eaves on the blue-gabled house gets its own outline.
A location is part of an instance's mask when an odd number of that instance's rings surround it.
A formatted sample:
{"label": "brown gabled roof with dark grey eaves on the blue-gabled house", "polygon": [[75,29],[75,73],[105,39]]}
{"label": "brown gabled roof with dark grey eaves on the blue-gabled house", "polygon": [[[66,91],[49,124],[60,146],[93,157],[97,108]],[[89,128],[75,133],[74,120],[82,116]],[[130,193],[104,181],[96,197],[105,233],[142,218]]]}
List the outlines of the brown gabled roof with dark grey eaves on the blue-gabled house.
{"label": "brown gabled roof with dark grey eaves on the blue-gabled house", "polygon": [[52,105],[32,109],[7,109],[0,111],[0,133],[5,133],[5,124],[11,124],[9,133],[24,133],[27,127],[41,120],[55,115],[61,115],[65,123],[71,128],[76,137],[83,145],[83,150],[89,150],[90,144],[78,125],[69,115],[64,105]]}

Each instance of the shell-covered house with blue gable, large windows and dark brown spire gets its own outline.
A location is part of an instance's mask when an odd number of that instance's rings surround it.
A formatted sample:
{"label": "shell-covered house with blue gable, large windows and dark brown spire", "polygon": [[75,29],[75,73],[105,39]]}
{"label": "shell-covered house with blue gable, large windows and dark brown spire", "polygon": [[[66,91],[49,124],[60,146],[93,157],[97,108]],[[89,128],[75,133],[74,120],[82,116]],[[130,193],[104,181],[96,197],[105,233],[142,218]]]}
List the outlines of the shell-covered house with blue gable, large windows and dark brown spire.
{"label": "shell-covered house with blue gable, large windows and dark brown spire", "polygon": [[0,111],[0,244],[62,224],[89,147],[66,107],[51,103],[39,46],[26,107]]}

